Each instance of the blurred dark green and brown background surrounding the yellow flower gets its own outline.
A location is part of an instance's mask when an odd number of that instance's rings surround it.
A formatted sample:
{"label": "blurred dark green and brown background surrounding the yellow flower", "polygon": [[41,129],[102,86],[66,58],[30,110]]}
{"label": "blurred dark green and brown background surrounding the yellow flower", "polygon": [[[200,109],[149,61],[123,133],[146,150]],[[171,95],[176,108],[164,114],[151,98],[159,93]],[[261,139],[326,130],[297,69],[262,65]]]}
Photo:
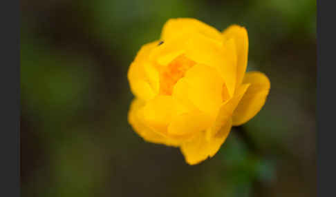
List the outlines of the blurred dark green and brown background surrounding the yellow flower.
{"label": "blurred dark green and brown background surrounding the yellow flower", "polygon": [[[127,69],[169,18],[249,34],[263,110],[189,166],[127,123]],[[22,196],[315,196],[316,1],[21,0]]]}

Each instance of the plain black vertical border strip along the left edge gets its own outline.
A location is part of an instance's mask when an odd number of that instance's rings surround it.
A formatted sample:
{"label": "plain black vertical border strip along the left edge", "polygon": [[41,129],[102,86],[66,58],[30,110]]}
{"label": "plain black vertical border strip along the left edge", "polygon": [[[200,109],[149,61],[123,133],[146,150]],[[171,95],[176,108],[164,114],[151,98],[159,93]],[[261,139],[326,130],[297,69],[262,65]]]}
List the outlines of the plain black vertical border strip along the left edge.
{"label": "plain black vertical border strip along the left edge", "polygon": [[19,1],[1,1],[0,196],[20,196],[20,16]]}

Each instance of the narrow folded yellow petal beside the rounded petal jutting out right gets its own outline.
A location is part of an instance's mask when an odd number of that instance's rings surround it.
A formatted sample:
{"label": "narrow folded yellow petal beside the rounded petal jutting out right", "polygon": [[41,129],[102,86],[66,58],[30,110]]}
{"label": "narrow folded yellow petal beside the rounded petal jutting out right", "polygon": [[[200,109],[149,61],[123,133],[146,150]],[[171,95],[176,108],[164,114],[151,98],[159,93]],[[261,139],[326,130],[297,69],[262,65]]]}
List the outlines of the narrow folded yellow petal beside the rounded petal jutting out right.
{"label": "narrow folded yellow petal beside the rounded petal jutting out right", "polygon": [[237,105],[239,105],[239,102],[243,98],[243,95],[249,90],[249,88],[250,84],[241,85],[241,87],[237,89],[236,94],[234,94],[234,97],[221,105],[221,109],[218,112],[216,121],[214,121],[212,127],[207,129],[206,137],[208,141],[210,141],[211,138],[215,136],[217,132],[221,129],[221,127],[223,127],[227,123],[227,121],[232,118],[234,110],[236,109]]}

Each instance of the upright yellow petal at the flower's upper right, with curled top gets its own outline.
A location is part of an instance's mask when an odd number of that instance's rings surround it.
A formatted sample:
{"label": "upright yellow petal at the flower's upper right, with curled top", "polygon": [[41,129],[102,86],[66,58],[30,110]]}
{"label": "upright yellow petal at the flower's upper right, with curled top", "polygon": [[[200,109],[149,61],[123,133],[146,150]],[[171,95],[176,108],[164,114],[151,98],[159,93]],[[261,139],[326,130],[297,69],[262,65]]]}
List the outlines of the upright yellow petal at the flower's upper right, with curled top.
{"label": "upright yellow petal at the flower's upper right, with curled top", "polygon": [[223,31],[224,39],[234,39],[237,54],[236,87],[243,81],[248,66],[248,32],[239,25],[231,25]]}

